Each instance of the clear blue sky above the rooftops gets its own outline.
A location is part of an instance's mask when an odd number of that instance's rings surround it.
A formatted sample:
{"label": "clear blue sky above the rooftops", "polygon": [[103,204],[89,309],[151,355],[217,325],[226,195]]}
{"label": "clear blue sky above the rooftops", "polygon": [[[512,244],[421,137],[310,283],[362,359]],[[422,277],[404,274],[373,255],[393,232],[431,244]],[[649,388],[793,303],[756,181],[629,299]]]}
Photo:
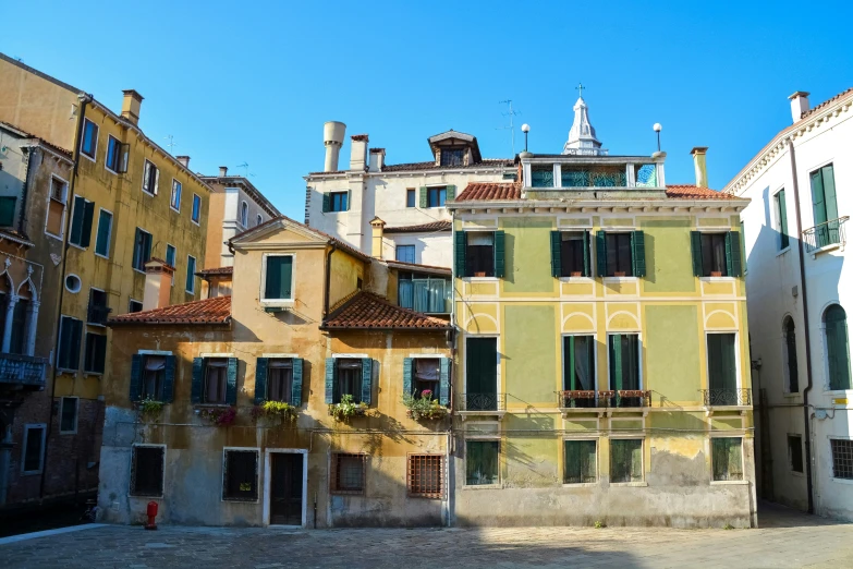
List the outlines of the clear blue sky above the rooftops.
{"label": "clear blue sky above the rooftops", "polygon": [[426,138],[451,128],[510,157],[510,98],[531,150],[559,153],[583,82],[612,154],[650,154],[660,122],[668,182],[692,183],[690,149],[709,146],[720,189],[790,123],[788,95],[853,86],[849,0],[643,4],[17,1],[0,51],[113,110],[137,89],[148,136],[173,135],[195,171],[248,162],[296,219],[327,120],[368,133],[389,164],[430,159]]}

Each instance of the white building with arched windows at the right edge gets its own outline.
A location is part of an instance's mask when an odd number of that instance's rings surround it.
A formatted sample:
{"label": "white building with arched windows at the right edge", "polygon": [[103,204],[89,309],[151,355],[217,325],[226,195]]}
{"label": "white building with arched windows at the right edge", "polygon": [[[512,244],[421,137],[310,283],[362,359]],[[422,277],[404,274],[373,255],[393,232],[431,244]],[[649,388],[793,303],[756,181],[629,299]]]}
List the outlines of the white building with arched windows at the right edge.
{"label": "white building with arched windows at the right edge", "polygon": [[[853,267],[853,89],[809,108],[726,186],[741,214],[756,397],[759,489],[853,519],[853,385],[846,315]],[[846,262],[845,262],[846,261]]]}

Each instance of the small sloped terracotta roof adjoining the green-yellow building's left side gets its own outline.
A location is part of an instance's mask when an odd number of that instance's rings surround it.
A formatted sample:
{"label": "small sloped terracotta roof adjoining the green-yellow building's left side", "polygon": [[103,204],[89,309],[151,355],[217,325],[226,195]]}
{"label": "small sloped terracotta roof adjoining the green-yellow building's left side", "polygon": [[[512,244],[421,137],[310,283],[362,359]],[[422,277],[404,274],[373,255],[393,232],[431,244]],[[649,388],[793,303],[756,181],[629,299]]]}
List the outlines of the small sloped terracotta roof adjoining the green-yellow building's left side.
{"label": "small sloped terracotta roof adjoining the green-yellow building's left side", "polygon": [[448,330],[450,323],[394,306],[370,292],[360,292],[334,311],[321,326],[327,330]]}

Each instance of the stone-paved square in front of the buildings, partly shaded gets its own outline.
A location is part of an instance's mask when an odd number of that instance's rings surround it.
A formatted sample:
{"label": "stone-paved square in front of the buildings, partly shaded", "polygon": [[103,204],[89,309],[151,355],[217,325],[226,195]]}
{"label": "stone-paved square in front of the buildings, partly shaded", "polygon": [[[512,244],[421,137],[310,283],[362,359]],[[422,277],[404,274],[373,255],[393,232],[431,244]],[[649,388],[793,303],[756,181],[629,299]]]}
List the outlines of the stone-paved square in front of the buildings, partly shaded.
{"label": "stone-paved square in front of the buildings, partly shaded", "polygon": [[0,545],[19,567],[853,568],[853,524],[781,508],[753,530],[281,530],[108,525]]}

